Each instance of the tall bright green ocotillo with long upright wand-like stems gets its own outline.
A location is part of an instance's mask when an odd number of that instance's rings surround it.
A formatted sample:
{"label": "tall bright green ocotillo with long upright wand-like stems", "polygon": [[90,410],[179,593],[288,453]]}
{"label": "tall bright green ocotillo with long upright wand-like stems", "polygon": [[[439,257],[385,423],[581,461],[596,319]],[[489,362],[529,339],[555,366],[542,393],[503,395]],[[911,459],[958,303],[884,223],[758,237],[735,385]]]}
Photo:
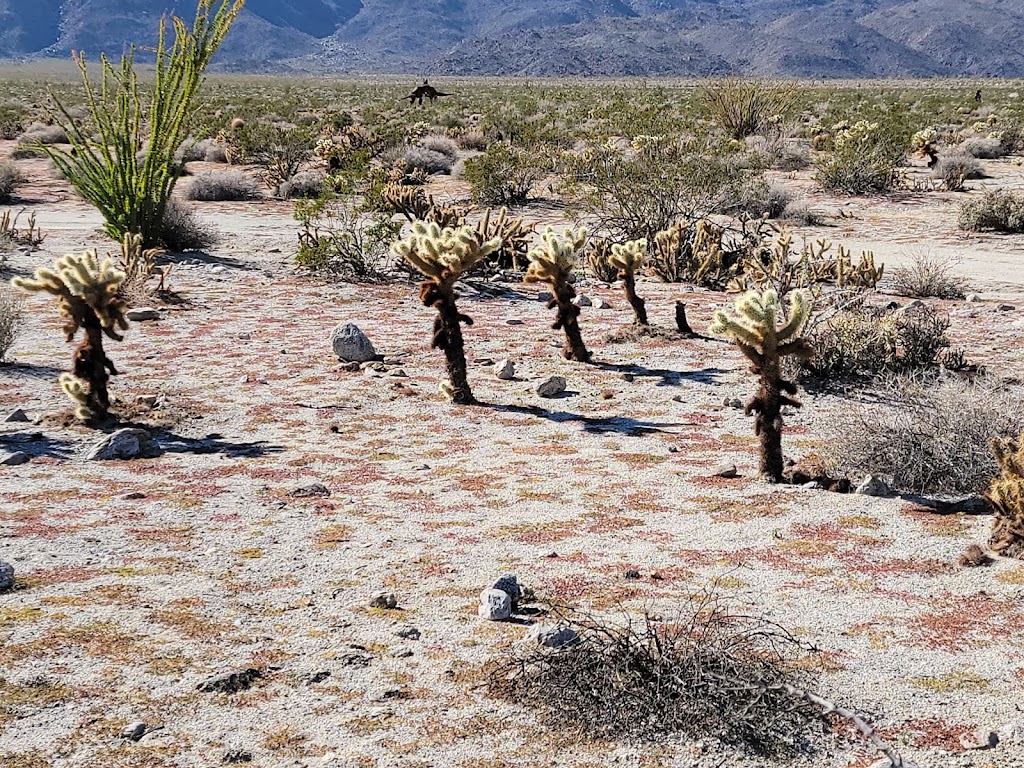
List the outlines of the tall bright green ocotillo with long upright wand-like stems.
{"label": "tall bright green ocotillo with long upright wand-like stems", "polygon": [[[199,0],[191,29],[173,18],[170,48],[164,36],[166,19],[161,19],[157,67],[144,88],[134,48],[122,55],[120,67],[101,57],[98,87],[92,84],[85,59],[76,56],[91,125],[84,128],[56,99],[60,127],[72,151],[43,150],[79,195],[99,209],[110,237],[120,241],[127,233],[138,233],[151,246],[159,245],[169,231],[165,208],[177,183],[175,155],[187,136],[203,72],[242,5],[242,0],[219,0],[214,8],[214,0]],[[147,148],[139,161],[136,154],[142,146]]]}

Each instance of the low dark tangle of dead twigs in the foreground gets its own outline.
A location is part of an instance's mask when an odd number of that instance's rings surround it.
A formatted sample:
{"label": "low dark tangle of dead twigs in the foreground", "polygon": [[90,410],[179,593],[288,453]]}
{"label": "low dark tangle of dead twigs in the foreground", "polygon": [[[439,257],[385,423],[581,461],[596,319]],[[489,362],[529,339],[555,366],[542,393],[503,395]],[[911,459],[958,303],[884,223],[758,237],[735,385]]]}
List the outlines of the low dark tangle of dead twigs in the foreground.
{"label": "low dark tangle of dead twigs in the foreground", "polygon": [[821,715],[835,714],[904,765],[860,718],[807,690],[815,677],[808,648],[714,592],[671,617],[554,612],[575,639],[502,658],[487,681],[493,695],[530,707],[553,728],[615,740],[715,737],[782,755],[806,740]]}

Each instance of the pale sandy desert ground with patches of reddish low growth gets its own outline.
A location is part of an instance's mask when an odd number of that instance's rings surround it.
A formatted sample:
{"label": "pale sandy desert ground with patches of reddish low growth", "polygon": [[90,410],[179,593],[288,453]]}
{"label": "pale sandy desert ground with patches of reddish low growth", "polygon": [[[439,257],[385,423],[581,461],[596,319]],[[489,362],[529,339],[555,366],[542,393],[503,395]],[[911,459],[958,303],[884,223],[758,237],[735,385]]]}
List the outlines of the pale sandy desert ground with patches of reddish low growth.
{"label": "pale sandy desert ground with patches of reddish low growth", "polygon": [[[0,159],[13,147],[0,142]],[[47,160],[17,164],[28,181],[11,207],[46,238],[13,252],[5,278],[115,250]],[[852,198],[816,189],[810,171],[772,173],[820,214],[798,238],[871,250],[887,268],[921,250],[955,258],[980,300],[926,301],[949,313],[972,362],[1019,393],[1024,236],[965,234],[955,219],[986,186],[1024,188],[1024,169],[984,164],[987,178],[965,193]],[[427,190],[468,195],[458,177]],[[514,213],[571,223],[554,202],[541,194]],[[483,665],[528,629],[477,615],[480,591],[504,573],[539,602],[611,613],[669,610],[714,584],[816,646],[821,693],[922,768],[1024,766],[1024,564],[957,564],[987,539],[987,515],[763,482],[751,420],[729,404],[755,386],[742,357],[712,338],[609,342],[632,313],[618,287],[591,276],[577,290],[610,305],[583,310],[593,365],[561,357],[543,287],[467,280],[479,404],[454,406],[438,392],[443,357],[415,283],[298,269],[289,201],[195,205],[220,243],[170,255],[176,300],[155,301],[159,318],[109,348],[112,391],[158,457],[85,460],[101,435],[59,416],[72,345],[49,297],[27,299],[26,330],[0,365],[0,418],[20,409],[31,420],[0,424],[0,449],[31,458],[0,467],[0,559],[17,575],[0,594],[5,768],[877,764],[842,726],[781,760],[714,739],[593,741],[546,727],[481,684]],[[650,278],[638,291],[666,329],[676,300],[698,332],[733,301]],[[885,283],[881,293],[907,302]],[[349,370],[333,354],[345,323],[380,366]],[[494,375],[504,358],[512,380]],[[553,375],[567,390],[540,397]],[[794,458],[869,399],[801,398],[784,434]],[[738,476],[713,476],[723,463]],[[382,591],[396,608],[371,606]],[[250,667],[262,677],[247,690],[197,689]],[[140,738],[122,735],[137,723]],[[973,749],[989,730],[998,743]]]}

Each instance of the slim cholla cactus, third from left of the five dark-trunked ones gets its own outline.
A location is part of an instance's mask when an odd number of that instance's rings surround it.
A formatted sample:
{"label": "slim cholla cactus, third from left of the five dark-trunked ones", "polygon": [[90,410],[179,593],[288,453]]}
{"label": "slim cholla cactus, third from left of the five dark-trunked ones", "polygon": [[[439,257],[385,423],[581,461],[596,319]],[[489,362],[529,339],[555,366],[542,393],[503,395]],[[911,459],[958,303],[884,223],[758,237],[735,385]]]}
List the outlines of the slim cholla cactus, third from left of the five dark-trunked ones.
{"label": "slim cholla cactus, third from left of the five dark-trunked ones", "polygon": [[524,280],[527,283],[547,283],[551,287],[554,298],[548,302],[548,308],[558,308],[552,328],[565,331],[565,347],[562,350],[565,359],[589,362],[590,352],[580,333],[580,307],[572,303],[575,291],[569,285],[569,275],[587,241],[587,232],[566,227],[565,232],[559,236],[549,226],[541,240],[543,245],[526,255],[529,267]]}

